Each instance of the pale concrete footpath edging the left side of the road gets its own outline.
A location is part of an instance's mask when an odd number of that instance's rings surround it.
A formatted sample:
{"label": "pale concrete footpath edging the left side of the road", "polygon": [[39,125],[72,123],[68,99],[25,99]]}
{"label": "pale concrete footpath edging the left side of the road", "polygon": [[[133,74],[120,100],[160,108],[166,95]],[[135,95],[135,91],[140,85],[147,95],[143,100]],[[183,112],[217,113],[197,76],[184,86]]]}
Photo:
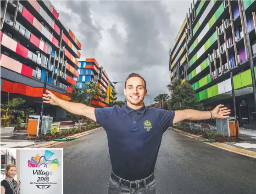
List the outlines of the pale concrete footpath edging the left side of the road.
{"label": "pale concrete footpath edging the left side of the road", "polygon": [[[93,133],[94,131],[97,131],[99,129],[103,129],[102,127],[98,127],[89,131],[84,131],[82,133],[78,133],[72,136],[67,136],[67,138],[72,137],[82,137],[86,136],[88,134]],[[72,140],[76,141],[76,140]],[[28,141],[28,140],[11,140],[11,139],[1,139],[1,148],[46,148],[46,147],[52,147],[55,145],[59,145],[66,142],[56,142],[56,141],[50,141],[50,142],[35,142],[35,141]]]}

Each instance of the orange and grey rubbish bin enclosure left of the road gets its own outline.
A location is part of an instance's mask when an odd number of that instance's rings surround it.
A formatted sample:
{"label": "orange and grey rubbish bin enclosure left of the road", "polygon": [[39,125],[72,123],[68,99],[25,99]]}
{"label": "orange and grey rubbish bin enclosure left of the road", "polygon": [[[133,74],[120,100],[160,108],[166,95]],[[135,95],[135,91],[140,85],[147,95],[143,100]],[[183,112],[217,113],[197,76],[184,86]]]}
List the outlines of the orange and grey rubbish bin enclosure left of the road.
{"label": "orange and grey rubbish bin enclosure left of the road", "polygon": [[[29,115],[33,119],[28,119],[28,135],[39,136],[39,121],[40,115]],[[50,128],[52,125],[53,118],[50,116],[43,116],[41,135],[50,133]]]}

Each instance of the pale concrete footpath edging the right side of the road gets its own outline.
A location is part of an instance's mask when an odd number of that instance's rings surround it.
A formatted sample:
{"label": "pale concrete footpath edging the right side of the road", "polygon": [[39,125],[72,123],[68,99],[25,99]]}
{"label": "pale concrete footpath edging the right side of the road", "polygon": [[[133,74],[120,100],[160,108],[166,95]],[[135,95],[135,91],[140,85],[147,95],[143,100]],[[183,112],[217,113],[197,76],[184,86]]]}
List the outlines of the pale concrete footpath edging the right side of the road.
{"label": "pale concrete footpath edging the right side of the road", "polygon": [[[188,137],[196,139],[198,141],[206,140],[205,138],[203,138],[201,136],[196,136],[196,135],[193,135],[191,133],[187,133],[185,131],[175,129],[173,127],[169,127],[169,129],[177,131],[181,135],[188,136]],[[202,143],[206,143],[206,144],[209,144],[211,146],[218,147],[218,148],[223,149],[223,150],[227,150],[229,152],[234,152],[234,153],[238,153],[238,154],[241,154],[241,155],[244,155],[244,156],[247,156],[247,157],[256,158],[256,142],[255,141],[254,142],[240,142],[240,143],[236,143],[236,142],[225,142],[225,143],[202,142]]]}

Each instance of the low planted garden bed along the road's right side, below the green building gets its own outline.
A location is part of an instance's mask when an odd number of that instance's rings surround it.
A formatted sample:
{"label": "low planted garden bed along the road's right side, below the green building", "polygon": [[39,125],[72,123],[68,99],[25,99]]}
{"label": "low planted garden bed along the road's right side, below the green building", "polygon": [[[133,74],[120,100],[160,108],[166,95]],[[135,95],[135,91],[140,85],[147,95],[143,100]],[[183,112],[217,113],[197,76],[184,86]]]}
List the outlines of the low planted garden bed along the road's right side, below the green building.
{"label": "low planted garden bed along the road's right side, below the green building", "polygon": [[[206,138],[206,139],[215,139],[217,142],[220,142],[220,143],[223,143],[223,142],[237,142],[235,136],[232,136],[232,137],[222,136],[220,134],[212,133],[212,132],[209,132],[209,131],[201,131],[201,130],[195,129],[195,128],[192,128],[192,130],[191,130],[189,125],[178,124],[178,125],[172,126],[172,127],[175,128],[175,129],[193,134],[193,135],[201,136],[201,137]],[[245,141],[246,140],[239,138],[239,142],[245,142]]]}

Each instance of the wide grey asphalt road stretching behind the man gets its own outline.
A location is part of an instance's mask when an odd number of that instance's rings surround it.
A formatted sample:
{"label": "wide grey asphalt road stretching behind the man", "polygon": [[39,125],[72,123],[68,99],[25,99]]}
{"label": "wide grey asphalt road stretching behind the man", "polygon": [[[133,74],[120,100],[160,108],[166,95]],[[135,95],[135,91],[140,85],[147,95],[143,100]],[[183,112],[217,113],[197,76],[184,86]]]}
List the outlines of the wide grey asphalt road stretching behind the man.
{"label": "wide grey asphalt road stretching behind the man", "polygon": [[[111,174],[102,129],[64,148],[64,194],[106,194]],[[167,130],[155,169],[158,194],[256,194],[256,159]]]}

